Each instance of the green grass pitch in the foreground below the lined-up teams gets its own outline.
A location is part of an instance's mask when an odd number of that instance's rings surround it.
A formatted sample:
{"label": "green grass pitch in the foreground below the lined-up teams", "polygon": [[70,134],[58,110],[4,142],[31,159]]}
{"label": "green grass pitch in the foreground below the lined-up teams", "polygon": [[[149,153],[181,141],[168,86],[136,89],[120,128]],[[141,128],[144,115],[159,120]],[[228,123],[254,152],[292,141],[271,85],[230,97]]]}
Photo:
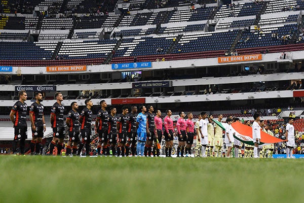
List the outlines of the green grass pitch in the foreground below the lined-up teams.
{"label": "green grass pitch in the foreground below the lined-up teams", "polygon": [[296,202],[302,160],[0,156],[0,202]]}

